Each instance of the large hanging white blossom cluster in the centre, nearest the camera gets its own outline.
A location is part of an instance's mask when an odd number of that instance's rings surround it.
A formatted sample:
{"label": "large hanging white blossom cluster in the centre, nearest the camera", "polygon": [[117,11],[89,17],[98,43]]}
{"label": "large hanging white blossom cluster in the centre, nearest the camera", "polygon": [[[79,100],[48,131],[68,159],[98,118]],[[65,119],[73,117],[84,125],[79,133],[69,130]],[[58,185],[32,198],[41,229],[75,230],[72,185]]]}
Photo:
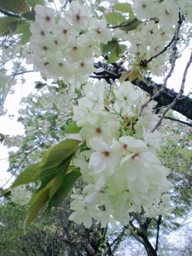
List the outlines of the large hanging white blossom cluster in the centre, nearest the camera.
{"label": "large hanging white blossom cluster in the centre, nearest the camera", "polygon": [[141,212],[141,207],[147,216],[163,213],[168,196],[164,202],[161,196],[171,183],[166,179],[169,170],[156,156],[160,133],[150,132],[158,119],[152,103],[139,114],[147,93],[124,82],[109,99],[101,81],[88,84],[84,93],[73,116],[84,148],[73,164],[81,169],[86,186],[82,195],[73,196],[70,220],[90,227],[95,218],[105,227],[115,221],[127,225],[129,213]]}

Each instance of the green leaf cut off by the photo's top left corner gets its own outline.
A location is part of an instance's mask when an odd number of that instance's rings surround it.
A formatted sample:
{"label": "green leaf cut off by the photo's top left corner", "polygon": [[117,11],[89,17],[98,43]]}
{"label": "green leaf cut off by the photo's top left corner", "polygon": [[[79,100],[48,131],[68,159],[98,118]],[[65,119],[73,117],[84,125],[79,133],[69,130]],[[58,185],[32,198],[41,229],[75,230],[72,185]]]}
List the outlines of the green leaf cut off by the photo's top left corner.
{"label": "green leaf cut off by the photo's top left corner", "polygon": [[0,0],[0,8],[13,13],[30,12],[30,6],[25,0]]}

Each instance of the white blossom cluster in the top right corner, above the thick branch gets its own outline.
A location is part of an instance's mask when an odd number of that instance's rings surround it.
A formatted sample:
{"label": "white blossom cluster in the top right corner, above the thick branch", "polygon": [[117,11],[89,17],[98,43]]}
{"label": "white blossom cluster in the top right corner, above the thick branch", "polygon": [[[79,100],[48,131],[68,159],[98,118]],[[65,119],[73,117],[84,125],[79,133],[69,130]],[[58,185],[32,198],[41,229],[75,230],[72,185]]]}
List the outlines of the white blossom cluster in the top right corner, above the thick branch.
{"label": "white blossom cluster in the top right corner, above the thick branch", "polygon": [[[163,51],[172,40],[179,21],[179,13],[180,17],[184,15],[186,23],[192,22],[192,3],[188,0],[136,0],[131,7],[142,23],[128,33],[115,29],[114,35],[130,43],[128,50],[130,69],[137,67],[141,72],[148,70],[153,75],[161,76],[166,71],[165,63],[170,59],[170,52],[164,51],[162,54],[159,52]],[[159,56],[147,63],[147,60],[157,54]]]}

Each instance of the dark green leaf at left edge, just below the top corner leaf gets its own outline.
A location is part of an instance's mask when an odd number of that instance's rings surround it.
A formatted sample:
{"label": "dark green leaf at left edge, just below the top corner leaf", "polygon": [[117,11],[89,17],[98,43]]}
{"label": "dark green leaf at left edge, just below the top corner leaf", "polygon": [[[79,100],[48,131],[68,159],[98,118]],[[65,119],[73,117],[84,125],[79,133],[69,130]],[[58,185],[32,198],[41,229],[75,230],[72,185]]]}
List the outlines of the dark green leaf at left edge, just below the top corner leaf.
{"label": "dark green leaf at left edge, just below the top corner leaf", "polygon": [[20,19],[15,17],[0,18],[0,36],[13,35],[19,26]]}

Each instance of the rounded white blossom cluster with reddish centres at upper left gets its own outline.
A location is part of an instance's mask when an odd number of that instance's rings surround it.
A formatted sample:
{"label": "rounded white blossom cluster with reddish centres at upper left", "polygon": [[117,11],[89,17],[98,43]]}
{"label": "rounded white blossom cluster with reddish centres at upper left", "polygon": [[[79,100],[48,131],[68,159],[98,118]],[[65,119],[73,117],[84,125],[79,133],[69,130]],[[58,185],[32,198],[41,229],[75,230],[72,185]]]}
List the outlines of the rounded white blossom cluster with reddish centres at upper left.
{"label": "rounded white blossom cluster with reddish centres at upper left", "polygon": [[100,43],[112,38],[106,20],[92,17],[88,6],[78,1],[72,1],[62,17],[39,4],[35,13],[35,24],[30,28],[32,54],[27,63],[33,63],[43,77],[61,77],[75,86],[86,82],[94,70],[93,56],[100,55]]}

